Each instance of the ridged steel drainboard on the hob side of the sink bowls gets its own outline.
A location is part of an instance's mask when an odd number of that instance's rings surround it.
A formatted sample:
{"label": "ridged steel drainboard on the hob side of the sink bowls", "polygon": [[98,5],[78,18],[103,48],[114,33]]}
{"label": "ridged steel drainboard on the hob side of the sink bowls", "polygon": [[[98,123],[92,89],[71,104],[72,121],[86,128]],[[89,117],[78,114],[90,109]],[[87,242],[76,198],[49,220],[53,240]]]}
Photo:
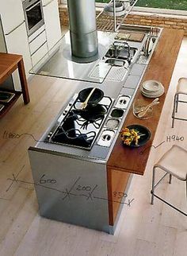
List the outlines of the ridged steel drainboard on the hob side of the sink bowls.
{"label": "ridged steel drainboard on the hob side of the sink bowls", "polygon": [[124,80],[124,76],[127,73],[127,69],[123,67],[112,67],[109,74],[106,76],[105,80],[113,82],[121,82]]}

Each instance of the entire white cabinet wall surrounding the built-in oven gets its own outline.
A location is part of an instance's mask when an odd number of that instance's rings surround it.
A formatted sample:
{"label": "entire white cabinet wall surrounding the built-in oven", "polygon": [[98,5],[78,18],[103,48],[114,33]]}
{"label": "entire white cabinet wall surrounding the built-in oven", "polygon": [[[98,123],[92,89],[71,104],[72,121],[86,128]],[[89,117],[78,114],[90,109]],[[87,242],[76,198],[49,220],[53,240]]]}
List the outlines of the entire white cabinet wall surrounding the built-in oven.
{"label": "entire white cabinet wall surrounding the built-in oven", "polygon": [[[37,62],[42,64],[44,56],[53,52],[55,44],[61,38],[58,0],[42,0],[42,3],[45,24],[28,37],[22,0],[0,1],[7,52],[23,56],[27,77]],[[17,71],[13,72],[13,83],[15,89],[21,89]]]}

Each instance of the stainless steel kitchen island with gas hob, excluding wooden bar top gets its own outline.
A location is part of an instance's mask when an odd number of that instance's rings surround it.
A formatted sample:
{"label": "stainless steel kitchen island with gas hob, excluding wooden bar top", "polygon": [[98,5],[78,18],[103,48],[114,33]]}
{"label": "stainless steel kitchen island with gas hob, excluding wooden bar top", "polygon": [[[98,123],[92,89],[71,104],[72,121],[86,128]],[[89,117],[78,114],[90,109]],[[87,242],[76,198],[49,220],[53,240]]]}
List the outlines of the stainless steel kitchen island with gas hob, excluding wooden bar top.
{"label": "stainless steel kitchen island with gas hob, excluding wooden bar top", "polygon": [[[149,29],[144,28],[143,41],[128,42],[129,48],[136,49],[135,54],[128,61],[128,67],[125,66],[125,61],[122,66],[106,61],[120,59],[116,56],[114,58],[109,56],[109,49],[113,47],[105,45],[105,41],[109,42],[110,38],[110,43],[115,46],[113,43],[116,43],[116,33],[110,33],[110,37],[109,33],[101,33],[98,37],[101,38],[99,45],[102,48],[102,55],[98,60],[88,64],[89,70],[84,68],[85,64],[68,60],[67,67],[71,67],[69,71],[78,65],[79,72],[84,73],[86,80],[81,77],[78,90],[74,91],[71,99],[68,99],[67,104],[40,138],[40,142],[35,147],[29,148],[40,215],[65,223],[105,231],[109,234],[114,233],[116,224],[114,226],[109,225],[109,191],[106,165],[135,92],[139,87],[139,82],[147,68],[148,60],[151,58],[152,52],[146,56],[145,60],[147,61],[140,60]],[[159,35],[155,37],[155,45]],[[111,38],[113,38],[112,42]],[[121,41],[117,42],[121,44]],[[63,47],[67,48],[67,45],[63,45]],[[69,61],[71,61],[71,65]],[[97,76],[95,79],[93,76],[97,73],[95,68],[103,64],[109,67],[109,70],[105,72],[105,76]],[[46,65],[48,66],[48,64]],[[68,69],[66,68],[66,70]],[[48,70],[48,72],[50,71]],[[121,72],[124,72],[123,76],[120,76]],[[72,74],[72,72],[70,73]],[[101,78],[99,83],[97,82],[98,77]],[[70,80],[70,86],[71,83],[74,81]],[[105,109],[105,114],[100,116],[99,120],[96,118],[92,122],[88,122],[86,128],[82,128],[82,122],[84,123],[86,120],[83,118],[82,121],[82,116],[80,117],[76,112],[76,106],[78,104],[78,91],[86,87],[97,87],[104,91],[104,98],[98,104],[102,109]],[[70,128],[67,129],[67,127]],[[89,134],[93,132],[95,135],[90,144]],[[62,134],[62,142],[55,139],[61,139]],[[90,145],[88,148],[86,148],[86,142]],[[129,184],[130,180],[128,181]],[[118,202],[116,198],[116,203],[121,206],[124,205],[127,190],[128,186],[126,191],[120,191],[124,195],[123,200]]]}

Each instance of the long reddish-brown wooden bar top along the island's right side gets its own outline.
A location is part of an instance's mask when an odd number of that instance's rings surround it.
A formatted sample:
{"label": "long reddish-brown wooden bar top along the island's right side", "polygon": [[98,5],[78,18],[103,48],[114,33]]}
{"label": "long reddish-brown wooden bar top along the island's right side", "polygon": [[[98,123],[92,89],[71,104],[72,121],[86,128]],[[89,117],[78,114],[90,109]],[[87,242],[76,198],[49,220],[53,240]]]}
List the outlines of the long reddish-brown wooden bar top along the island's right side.
{"label": "long reddish-brown wooden bar top along the island's right side", "polygon": [[[145,80],[158,80],[165,87],[165,94],[159,98],[160,104],[156,106],[157,111],[154,112],[154,117],[147,120],[135,118],[131,107],[128,112],[128,116],[124,121],[123,127],[131,124],[147,126],[147,128],[151,131],[151,140],[142,147],[132,149],[128,148],[128,146],[122,145],[119,135],[107,163],[107,167],[109,169],[115,169],[125,173],[135,173],[139,175],[144,174],[151,145],[155,138],[155,132],[157,130],[159,118],[162,112],[162,107],[166,99],[166,93],[170,86],[171,76],[174,71],[174,66],[177,60],[177,54],[181,46],[183,35],[184,32],[182,30],[162,30],[162,35],[159,38],[158,45],[155,48],[155,52],[151,57],[151,61],[148,64],[147,70],[140,83],[141,86]],[[151,100],[153,100],[143,97],[143,95],[141,95],[140,88],[136,92],[135,99],[146,99],[147,103],[150,103]],[[144,149],[147,150],[141,154]]]}

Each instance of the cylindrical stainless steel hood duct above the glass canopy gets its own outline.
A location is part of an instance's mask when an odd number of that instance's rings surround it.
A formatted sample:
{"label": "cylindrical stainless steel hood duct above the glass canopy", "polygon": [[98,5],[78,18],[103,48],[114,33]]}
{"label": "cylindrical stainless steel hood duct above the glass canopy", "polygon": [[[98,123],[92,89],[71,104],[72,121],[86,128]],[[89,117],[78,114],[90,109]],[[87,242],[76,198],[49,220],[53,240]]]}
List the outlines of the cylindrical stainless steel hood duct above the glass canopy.
{"label": "cylindrical stainless steel hood duct above the glass canopy", "polygon": [[87,58],[98,52],[95,0],[67,0],[71,53]]}

